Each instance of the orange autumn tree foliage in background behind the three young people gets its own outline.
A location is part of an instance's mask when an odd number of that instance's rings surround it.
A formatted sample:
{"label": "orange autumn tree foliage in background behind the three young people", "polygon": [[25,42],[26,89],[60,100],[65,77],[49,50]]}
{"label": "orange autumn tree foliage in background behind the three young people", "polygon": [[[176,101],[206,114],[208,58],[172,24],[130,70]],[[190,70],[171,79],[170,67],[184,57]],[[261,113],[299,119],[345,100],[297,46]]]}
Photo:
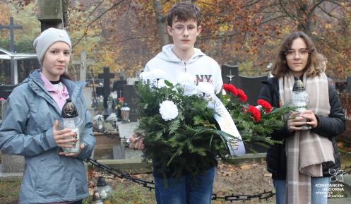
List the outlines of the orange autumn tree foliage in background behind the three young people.
{"label": "orange autumn tree foliage in background behind the three young people", "polygon": [[[16,0],[15,0],[16,1]],[[18,1],[16,1],[18,2]],[[21,1],[22,3],[24,1]],[[136,75],[169,42],[165,15],[175,0],[107,0],[69,3],[68,30],[76,50]],[[265,74],[285,35],[306,32],[328,58],[334,78],[350,76],[351,3],[346,0],[199,0],[203,32],[196,47],[220,64],[239,64],[251,75]],[[88,47],[88,48],[87,48]]]}

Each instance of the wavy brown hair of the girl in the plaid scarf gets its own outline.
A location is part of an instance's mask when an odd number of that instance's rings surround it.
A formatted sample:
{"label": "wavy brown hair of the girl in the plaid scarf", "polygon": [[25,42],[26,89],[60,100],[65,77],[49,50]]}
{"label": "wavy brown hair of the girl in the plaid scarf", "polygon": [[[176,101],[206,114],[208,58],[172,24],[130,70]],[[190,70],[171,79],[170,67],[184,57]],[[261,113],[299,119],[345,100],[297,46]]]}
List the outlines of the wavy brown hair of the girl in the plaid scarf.
{"label": "wavy brown hair of the girl in the plaid scarf", "polygon": [[304,40],[304,43],[306,43],[307,49],[309,50],[309,59],[307,60],[307,65],[304,68],[304,72],[306,72],[307,78],[318,76],[319,73],[322,73],[324,71],[323,66],[321,66],[321,58],[317,56],[318,53],[316,47],[314,47],[314,43],[312,42],[311,38],[304,32],[297,31],[287,35],[287,37],[285,37],[285,40],[283,40],[280,44],[271,71],[273,76],[275,76],[276,78],[280,78],[289,73],[290,68],[289,66],[287,66],[285,54],[287,50],[291,48],[292,42],[297,38],[301,38],[302,40]]}

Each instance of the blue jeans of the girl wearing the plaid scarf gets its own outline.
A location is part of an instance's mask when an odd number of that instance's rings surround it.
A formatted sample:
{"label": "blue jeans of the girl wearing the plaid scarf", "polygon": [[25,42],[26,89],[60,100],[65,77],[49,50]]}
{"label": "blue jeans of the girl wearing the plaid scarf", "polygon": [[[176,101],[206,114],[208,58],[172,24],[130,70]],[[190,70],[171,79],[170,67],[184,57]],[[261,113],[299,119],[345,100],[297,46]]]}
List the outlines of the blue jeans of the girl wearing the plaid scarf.
{"label": "blue jeans of the girl wearing the plaid scarf", "polygon": [[[273,180],[277,204],[286,203],[286,180]],[[328,203],[328,186],[331,184],[330,177],[311,178],[311,204]]]}

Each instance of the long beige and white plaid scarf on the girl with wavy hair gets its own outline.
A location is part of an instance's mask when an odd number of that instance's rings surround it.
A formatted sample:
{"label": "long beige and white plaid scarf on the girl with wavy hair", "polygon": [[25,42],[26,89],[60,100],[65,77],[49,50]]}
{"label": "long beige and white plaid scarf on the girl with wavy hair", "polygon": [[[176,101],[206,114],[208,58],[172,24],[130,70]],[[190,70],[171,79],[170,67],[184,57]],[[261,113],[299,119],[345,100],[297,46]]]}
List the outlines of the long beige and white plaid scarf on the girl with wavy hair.
{"label": "long beige and white plaid scarf on the girl with wavy hair", "polygon": [[[282,104],[290,102],[294,85],[292,73],[279,78],[279,93]],[[309,109],[314,114],[328,116],[331,110],[326,73],[307,78],[304,87],[309,94]],[[333,161],[333,145],[328,138],[310,130],[295,131],[286,138],[287,155],[287,204],[311,203],[311,176],[323,176],[323,162]]]}

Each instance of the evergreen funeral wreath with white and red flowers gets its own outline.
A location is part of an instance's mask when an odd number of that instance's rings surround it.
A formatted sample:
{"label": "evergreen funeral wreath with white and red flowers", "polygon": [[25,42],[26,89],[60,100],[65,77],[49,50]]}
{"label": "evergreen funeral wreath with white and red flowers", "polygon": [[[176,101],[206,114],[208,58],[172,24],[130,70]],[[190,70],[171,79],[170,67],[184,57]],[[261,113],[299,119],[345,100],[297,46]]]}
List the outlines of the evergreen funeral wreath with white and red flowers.
{"label": "evergreen funeral wreath with white and red flowers", "polygon": [[[275,142],[269,133],[282,126],[281,116],[288,109],[273,109],[263,101],[258,102],[261,107],[253,107],[246,104],[245,93],[232,85],[223,85],[222,92],[215,94],[210,83],[194,85],[188,73],[172,82],[164,76],[161,70],[143,72],[137,87],[136,133],[145,145],[144,159],[153,160],[158,173],[201,174],[216,164],[215,157],[228,156],[228,144]],[[220,130],[215,101],[224,104],[242,138]]]}

